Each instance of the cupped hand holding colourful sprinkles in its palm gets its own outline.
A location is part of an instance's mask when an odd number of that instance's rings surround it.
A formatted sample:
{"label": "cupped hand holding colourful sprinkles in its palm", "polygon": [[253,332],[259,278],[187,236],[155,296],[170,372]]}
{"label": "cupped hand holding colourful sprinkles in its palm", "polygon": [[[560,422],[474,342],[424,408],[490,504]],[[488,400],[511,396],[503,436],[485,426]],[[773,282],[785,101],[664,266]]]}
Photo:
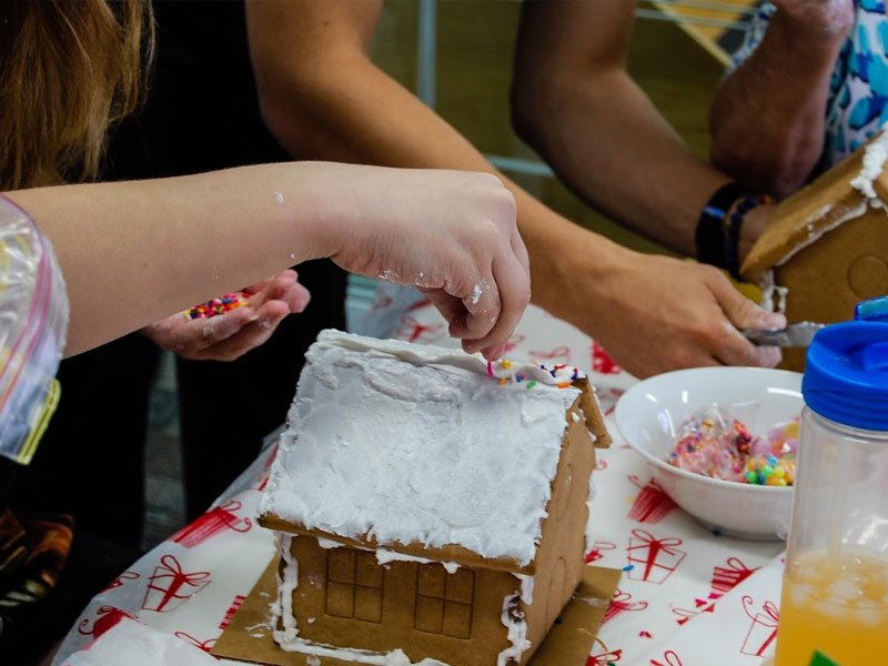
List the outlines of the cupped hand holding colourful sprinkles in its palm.
{"label": "cupped hand holding colourful sprinkles in its palm", "polygon": [[243,290],[246,304],[212,317],[190,319],[178,313],[145,326],[142,332],[161,349],[193,361],[234,361],[263,344],[283,319],[305,310],[311,299],[295,271]]}

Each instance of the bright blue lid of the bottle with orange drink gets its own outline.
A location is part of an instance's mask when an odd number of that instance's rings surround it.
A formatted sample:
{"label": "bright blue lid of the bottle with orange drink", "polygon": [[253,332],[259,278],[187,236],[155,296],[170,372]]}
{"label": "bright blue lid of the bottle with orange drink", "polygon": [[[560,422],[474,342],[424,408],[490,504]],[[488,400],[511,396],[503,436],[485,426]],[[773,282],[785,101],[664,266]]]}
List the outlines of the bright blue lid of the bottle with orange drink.
{"label": "bright blue lid of the bottle with orange drink", "polygon": [[888,431],[888,296],[859,303],[854,321],[814,336],[801,394],[830,421]]}

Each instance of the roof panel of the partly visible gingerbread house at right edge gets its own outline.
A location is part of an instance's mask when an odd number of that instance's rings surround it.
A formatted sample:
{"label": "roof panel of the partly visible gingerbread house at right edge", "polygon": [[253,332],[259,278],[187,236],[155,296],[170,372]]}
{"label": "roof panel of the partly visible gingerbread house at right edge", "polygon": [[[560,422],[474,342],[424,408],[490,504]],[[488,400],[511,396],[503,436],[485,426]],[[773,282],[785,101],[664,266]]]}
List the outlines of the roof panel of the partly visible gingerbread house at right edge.
{"label": "roof panel of the partly visible gingerbread house at right edge", "polygon": [[869,143],[781,201],[774,211],[774,222],[744,261],[743,275],[759,280],[766,271],[786,263],[824,234],[866,213],[868,206],[885,208],[886,161],[888,130],[882,129]]}

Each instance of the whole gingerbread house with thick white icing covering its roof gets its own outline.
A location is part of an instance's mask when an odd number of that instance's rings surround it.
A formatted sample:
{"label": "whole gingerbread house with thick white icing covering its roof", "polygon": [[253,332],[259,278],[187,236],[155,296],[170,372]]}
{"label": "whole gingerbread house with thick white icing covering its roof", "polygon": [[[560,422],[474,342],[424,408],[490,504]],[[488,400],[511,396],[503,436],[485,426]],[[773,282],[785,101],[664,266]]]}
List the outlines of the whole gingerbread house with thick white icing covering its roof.
{"label": "whole gingerbread house with thick white icing covering its roof", "polygon": [[608,443],[576,369],[323,332],[260,506],[275,640],[317,663],[527,664],[581,579]]}

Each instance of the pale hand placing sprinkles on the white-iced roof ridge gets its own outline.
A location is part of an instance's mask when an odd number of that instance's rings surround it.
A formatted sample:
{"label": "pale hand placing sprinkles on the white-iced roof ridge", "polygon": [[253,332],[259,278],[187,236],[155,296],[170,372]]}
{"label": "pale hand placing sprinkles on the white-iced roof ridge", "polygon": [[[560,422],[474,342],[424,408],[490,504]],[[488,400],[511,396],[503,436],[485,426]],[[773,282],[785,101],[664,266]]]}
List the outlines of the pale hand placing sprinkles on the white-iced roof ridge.
{"label": "pale hand placing sprinkles on the white-iced roof ridge", "polygon": [[531,297],[515,200],[502,182],[487,173],[374,169],[353,185],[390,195],[360,198],[380,208],[364,206],[361,223],[343,230],[333,261],[418,287],[463,349],[501,355]]}

